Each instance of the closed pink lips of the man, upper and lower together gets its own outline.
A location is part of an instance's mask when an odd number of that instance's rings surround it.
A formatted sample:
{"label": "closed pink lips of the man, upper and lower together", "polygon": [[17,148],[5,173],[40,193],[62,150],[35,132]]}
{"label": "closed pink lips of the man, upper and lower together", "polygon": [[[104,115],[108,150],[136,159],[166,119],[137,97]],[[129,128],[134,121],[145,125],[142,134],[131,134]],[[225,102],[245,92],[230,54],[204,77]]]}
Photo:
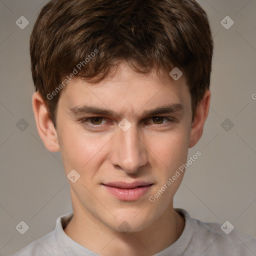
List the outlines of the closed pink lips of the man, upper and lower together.
{"label": "closed pink lips of the man, upper and lower together", "polygon": [[103,183],[102,185],[114,197],[124,201],[134,201],[148,192],[153,183],[144,181],[135,181],[132,183],[109,182]]}

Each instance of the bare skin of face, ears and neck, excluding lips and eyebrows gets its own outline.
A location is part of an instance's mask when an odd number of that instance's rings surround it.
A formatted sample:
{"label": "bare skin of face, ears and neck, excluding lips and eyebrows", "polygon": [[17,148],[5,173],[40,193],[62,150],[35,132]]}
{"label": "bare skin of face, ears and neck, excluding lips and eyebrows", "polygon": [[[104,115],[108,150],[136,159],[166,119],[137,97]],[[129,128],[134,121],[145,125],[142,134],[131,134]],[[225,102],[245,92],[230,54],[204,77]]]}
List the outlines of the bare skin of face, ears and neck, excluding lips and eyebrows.
{"label": "bare skin of face, ears and neck, excluding lips and eyebrows", "polygon": [[[74,183],[68,179],[73,218],[65,233],[104,256],[152,255],[176,241],[184,219],[173,210],[173,196],[182,175],[154,202],[149,196],[186,162],[188,148],[202,135],[209,101],[206,90],[192,121],[184,75],[175,81],[168,73],[155,70],[140,74],[123,62],[113,75],[97,84],[72,79],[61,91],[55,129],[40,94],[35,92],[32,105],[45,147],[60,150],[66,175],[72,169],[80,174]],[[181,104],[182,109],[158,114],[156,119],[143,114],[173,103]],[[70,110],[85,104],[110,109],[117,116],[82,122],[86,117],[102,116]],[[126,131],[118,127],[123,118],[131,123]],[[136,180],[153,185],[134,201],[117,199],[102,185]],[[118,228],[123,221],[128,223],[128,232]]]}

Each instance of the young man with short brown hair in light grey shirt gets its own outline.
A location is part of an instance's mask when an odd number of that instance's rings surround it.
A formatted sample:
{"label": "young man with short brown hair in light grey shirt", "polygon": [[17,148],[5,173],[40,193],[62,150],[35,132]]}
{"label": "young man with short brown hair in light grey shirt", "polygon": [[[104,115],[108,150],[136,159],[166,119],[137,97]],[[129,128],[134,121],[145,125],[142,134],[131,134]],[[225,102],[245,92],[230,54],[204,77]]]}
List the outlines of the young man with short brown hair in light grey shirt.
{"label": "young man with short brown hair in light grey shirt", "polygon": [[255,238],[173,208],[208,114],[212,49],[194,0],[42,8],[32,105],[45,147],[61,152],[73,213],[15,256],[255,255]]}

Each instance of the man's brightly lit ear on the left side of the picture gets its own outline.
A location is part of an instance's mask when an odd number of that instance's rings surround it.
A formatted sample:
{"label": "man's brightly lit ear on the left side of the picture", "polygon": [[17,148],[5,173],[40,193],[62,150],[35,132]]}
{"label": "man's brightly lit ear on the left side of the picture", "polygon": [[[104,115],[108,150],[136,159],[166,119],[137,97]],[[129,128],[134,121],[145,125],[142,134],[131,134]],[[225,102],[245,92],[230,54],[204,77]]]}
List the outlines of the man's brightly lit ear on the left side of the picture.
{"label": "man's brightly lit ear on the left side of the picture", "polygon": [[38,91],[33,93],[32,106],[37,131],[45,147],[52,152],[59,151],[56,129],[49,117],[44,100]]}

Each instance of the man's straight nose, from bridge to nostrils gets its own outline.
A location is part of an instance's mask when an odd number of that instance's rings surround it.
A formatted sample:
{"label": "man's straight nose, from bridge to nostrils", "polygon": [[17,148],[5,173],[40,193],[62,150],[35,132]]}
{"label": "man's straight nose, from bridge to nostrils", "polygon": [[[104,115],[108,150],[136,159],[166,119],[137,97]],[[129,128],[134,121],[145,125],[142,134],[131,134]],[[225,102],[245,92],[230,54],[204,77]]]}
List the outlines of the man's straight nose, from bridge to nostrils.
{"label": "man's straight nose, from bridge to nostrils", "polygon": [[118,129],[114,136],[110,161],[114,167],[129,174],[135,174],[139,167],[148,162],[146,145],[134,125],[126,131]]}

